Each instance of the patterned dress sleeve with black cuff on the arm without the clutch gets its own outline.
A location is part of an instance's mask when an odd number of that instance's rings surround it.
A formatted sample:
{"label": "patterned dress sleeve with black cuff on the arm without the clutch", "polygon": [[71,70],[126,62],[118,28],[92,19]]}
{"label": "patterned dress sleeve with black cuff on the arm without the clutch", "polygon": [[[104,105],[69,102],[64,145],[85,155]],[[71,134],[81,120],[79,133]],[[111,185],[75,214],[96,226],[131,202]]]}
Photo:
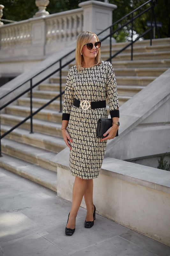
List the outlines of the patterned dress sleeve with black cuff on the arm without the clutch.
{"label": "patterned dress sleeve with black cuff on the arm without the clutch", "polygon": [[72,87],[72,78],[70,73],[71,72],[69,70],[65,84],[62,120],[69,120],[71,107],[74,103],[74,89]]}

